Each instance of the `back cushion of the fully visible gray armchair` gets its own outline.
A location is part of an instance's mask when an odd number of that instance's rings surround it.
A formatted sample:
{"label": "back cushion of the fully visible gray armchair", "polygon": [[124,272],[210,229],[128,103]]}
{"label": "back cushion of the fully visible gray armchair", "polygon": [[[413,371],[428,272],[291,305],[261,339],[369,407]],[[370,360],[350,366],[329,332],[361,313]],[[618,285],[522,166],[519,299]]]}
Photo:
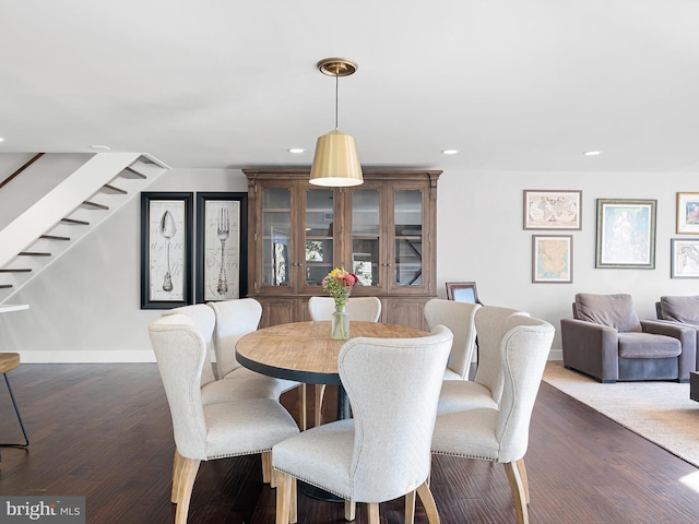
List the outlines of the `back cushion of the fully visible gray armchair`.
{"label": "back cushion of the fully visible gray armchair", "polygon": [[619,333],[641,331],[630,295],[576,295],[576,318],[615,327]]}

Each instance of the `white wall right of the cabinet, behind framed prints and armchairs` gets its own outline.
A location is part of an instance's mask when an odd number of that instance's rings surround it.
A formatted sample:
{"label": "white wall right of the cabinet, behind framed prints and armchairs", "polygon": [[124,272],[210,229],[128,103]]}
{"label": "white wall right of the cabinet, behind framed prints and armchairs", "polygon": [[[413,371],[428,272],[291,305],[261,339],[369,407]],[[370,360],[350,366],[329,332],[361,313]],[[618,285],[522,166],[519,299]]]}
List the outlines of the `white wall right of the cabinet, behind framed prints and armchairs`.
{"label": "white wall right of the cabinet, behind framed prints and armchairs", "polygon": [[[677,192],[698,190],[696,174],[445,172],[439,180],[437,278],[475,281],[484,303],[529,311],[557,331],[576,293],[629,293],[641,318],[655,318],[661,295],[699,295],[699,279],[670,277]],[[524,230],[522,191],[582,190],[582,229]],[[594,267],[596,199],[657,200],[654,270]],[[573,236],[572,284],[532,284],[532,235]]]}

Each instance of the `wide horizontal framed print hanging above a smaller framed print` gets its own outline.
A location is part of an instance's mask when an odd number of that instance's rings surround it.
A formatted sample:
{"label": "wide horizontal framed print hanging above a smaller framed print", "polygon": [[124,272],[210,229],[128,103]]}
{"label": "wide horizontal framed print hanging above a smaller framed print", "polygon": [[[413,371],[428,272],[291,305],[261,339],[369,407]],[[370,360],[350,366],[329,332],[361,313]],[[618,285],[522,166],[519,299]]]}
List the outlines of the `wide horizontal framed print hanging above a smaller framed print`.
{"label": "wide horizontal framed print hanging above a smaller framed print", "polygon": [[524,190],[524,229],[581,229],[579,190]]}

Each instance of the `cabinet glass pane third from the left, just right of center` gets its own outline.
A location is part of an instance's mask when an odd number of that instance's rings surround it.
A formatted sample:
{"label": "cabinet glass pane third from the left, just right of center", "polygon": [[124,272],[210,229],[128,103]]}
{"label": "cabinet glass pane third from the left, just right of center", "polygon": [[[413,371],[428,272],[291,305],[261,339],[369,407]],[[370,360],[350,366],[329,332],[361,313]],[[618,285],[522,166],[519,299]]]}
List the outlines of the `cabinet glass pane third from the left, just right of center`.
{"label": "cabinet glass pane third from the left, just right of center", "polygon": [[378,189],[352,191],[352,272],[359,286],[380,286],[379,249],[381,193]]}

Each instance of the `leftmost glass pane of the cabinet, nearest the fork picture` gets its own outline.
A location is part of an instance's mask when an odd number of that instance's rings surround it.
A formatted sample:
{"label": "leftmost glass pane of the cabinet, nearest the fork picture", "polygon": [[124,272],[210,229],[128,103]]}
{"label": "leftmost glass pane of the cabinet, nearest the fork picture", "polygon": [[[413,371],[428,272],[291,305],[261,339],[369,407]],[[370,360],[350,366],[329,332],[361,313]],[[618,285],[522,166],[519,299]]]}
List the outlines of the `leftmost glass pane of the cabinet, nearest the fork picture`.
{"label": "leftmost glass pane of the cabinet, nearest the fork picture", "polygon": [[292,193],[268,188],[262,193],[262,284],[289,286]]}

